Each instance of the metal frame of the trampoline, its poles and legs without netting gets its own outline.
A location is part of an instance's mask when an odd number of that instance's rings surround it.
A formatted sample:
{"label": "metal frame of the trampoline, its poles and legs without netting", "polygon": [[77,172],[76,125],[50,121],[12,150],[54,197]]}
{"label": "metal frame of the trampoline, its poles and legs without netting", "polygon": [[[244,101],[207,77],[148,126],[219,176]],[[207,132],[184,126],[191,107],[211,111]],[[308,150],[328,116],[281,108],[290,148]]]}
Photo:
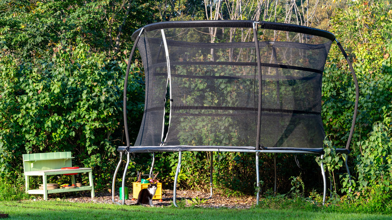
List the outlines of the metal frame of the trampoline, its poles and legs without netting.
{"label": "metal frame of the trampoline, its poles and legs without netting", "polygon": [[[238,21],[234,21],[234,22],[238,22]],[[197,27],[204,27],[205,24],[213,24],[211,23],[211,21],[199,21],[199,22],[193,22],[195,24],[195,26]],[[165,26],[167,23],[163,24],[163,26]],[[185,25],[185,22],[174,22],[175,25],[177,26],[183,26]],[[256,28],[256,24],[260,25],[262,28],[267,28],[267,29],[272,29],[271,27],[273,25],[276,26],[277,30],[286,30],[286,26],[293,26],[294,25],[287,25],[287,24],[279,24],[279,23],[269,23],[269,22],[257,22],[257,21],[253,21],[253,35],[254,35],[254,39],[257,39],[257,28]],[[136,46],[138,44],[138,41],[140,39],[140,36],[142,35],[143,31],[145,29],[151,29],[153,25],[147,25],[145,27],[143,27],[142,29],[138,30],[135,32],[135,34],[137,32],[138,36],[135,39],[135,44],[132,48],[131,54],[130,54],[130,58],[128,61],[128,66],[127,66],[127,72],[126,72],[126,76],[125,79],[128,79],[128,74],[129,74],[129,70],[130,70],[130,65],[131,65],[131,61],[132,61],[132,56],[135,52]],[[274,27],[275,27],[274,26]],[[312,29],[312,28],[308,28],[308,27],[303,27],[303,26],[295,26],[296,28],[299,28],[302,32],[304,33],[310,33],[314,30],[317,29]],[[317,30],[320,32],[321,35],[323,35],[326,38],[330,38],[332,39],[333,34],[326,32],[326,31],[322,31],[322,30]],[[169,55],[168,55],[168,50],[167,50],[167,44],[166,44],[166,39],[165,39],[165,35],[164,35],[164,30],[161,29],[161,33],[162,33],[162,38],[163,38],[163,42],[164,42],[164,47],[165,47],[165,54],[166,54],[166,59],[167,59],[167,66],[168,66],[168,83],[171,83],[170,81],[170,60],[169,60]],[[332,35],[332,36],[331,36]],[[350,141],[351,141],[351,137],[354,131],[354,127],[355,127],[355,121],[356,121],[356,115],[357,115],[357,109],[358,109],[358,99],[359,99],[359,88],[358,88],[358,82],[356,79],[356,75],[354,72],[354,69],[352,67],[352,64],[347,56],[347,54],[345,53],[342,45],[336,40],[333,39],[333,41],[335,41],[339,47],[339,49],[341,50],[342,54],[344,55],[344,57],[346,58],[346,61],[349,65],[351,74],[353,76],[353,81],[355,84],[355,105],[354,105],[354,113],[353,113],[353,120],[352,120],[352,125],[351,125],[351,129],[350,129],[350,134],[349,134],[349,138],[346,144],[346,148],[345,149],[339,149],[339,150],[346,150],[346,151],[341,151],[344,155],[345,155],[345,166],[346,166],[346,170],[347,173],[349,175],[349,178],[351,180],[351,176],[350,176],[350,171],[349,171],[349,167],[347,164],[347,157],[348,157],[348,153],[349,153],[349,145],[350,145]],[[258,40],[255,40],[255,48],[256,48],[256,54],[257,54],[257,68],[258,68],[258,75],[259,75],[259,87],[261,88],[262,86],[262,78],[261,78],[261,66],[260,66],[260,53],[259,53],[259,46],[258,46]],[[131,152],[129,152],[130,150],[130,141],[129,141],[129,135],[128,135],[128,125],[127,125],[127,113],[126,113],[126,107],[127,107],[127,94],[126,94],[126,88],[127,88],[127,80],[125,80],[124,83],[124,129],[126,132],[126,141],[127,141],[127,146],[125,147],[119,147],[118,151],[120,152],[120,160],[118,162],[118,165],[116,167],[115,173],[114,173],[114,177],[113,177],[113,182],[112,182],[112,201],[115,202],[115,180],[116,180],[116,176],[117,173],[119,171],[119,168],[121,166],[122,160],[123,160],[123,156],[124,154],[127,155],[127,162],[125,165],[125,170],[123,173],[123,178],[122,178],[122,194],[125,195],[125,178],[126,178],[126,173],[128,171],[128,166],[130,163],[130,154]],[[259,89],[259,93],[261,93],[262,89]],[[259,155],[260,153],[274,153],[274,192],[276,192],[276,153],[283,153],[283,154],[319,154],[321,155],[321,159],[323,159],[324,155],[323,155],[323,150],[321,151],[312,151],[312,149],[309,149],[309,151],[301,149],[301,150],[296,150],[296,149],[285,149],[285,150],[279,150],[279,149],[262,149],[260,150],[260,146],[259,146],[259,141],[260,141],[260,117],[261,117],[261,94],[258,95],[259,100],[258,100],[258,126],[257,126],[257,135],[256,135],[256,145],[255,145],[255,150],[249,150],[249,149],[222,149],[220,148],[220,146],[203,146],[206,148],[203,148],[202,146],[199,147],[195,147],[192,148],[192,146],[181,146],[181,147],[189,147],[189,149],[185,149],[185,150],[177,150],[178,151],[178,163],[177,163],[177,168],[176,168],[176,173],[175,173],[175,177],[174,177],[174,187],[173,187],[173,204],[175,206],[177,206],[176,203],[176,189],[177,189],[177,180],[178,180],[178,174],[180,171],[180,167],[181,167],[181,157],[182,157],[182,151],[206,151],[206,152],[210,152],[210,158],[211,158],[211,167],[210,167],[210,197],[212,198],[213,196],[213,176],[212,176],[212,172],[213,172],[213,157],[212,157],[212,153],[213,152],[244,152],[244,153],[255,153],[255,159],[256,159],[256,188],[257,188],[257,194],[256,194],[256,204],[258,204],[259,202],[259,193],[260,193],[260,176],[259,176]],[[170,86],[170,106],[171,106],[171,86]],[[170,112],[171,114],[171,112]],[[169,120],[170,120],[170,116],[169,116]],[[161,144],[162,145],[162,144]],[[216,147],[216,148],[211,148],[211,147]],[[148,148],[148,147],[147,147]],[[240,148],[240,147],[239,147]],[[172,152],[174,152],[176,150],[172,150]],[[133,150],[132,152],[137,153],[138,150]],[[139,151],[142,152],[142,151]],[[145,151],[143,151],[145,152]],[[158,152],[158,151],[157,151]],[[152,163],[151,163],[151,168],[150,168],[150,175],[152,174],[153,171],[153,167],[154,167],[154,162],[155,162],[155,151],[152,151]],[[320,164],[320,168],[321,168],[321,172],[322,172],[322,177],[323,177],[323,205],[325,204],[325,200],[326,200],[326,194],[327,194],[327,179],[326,179],[326,175],[325,175],[325,169],[324,169],[324,164],[323,162],[321,162]],[[350,181],[351,182],[351,181]],[[118,203],[118,202],[116,202]],[[120,203],[118,203],[120,204]],[[123,196],[122,198],[122,203],[121,204],[125,204],[125,196]]]}

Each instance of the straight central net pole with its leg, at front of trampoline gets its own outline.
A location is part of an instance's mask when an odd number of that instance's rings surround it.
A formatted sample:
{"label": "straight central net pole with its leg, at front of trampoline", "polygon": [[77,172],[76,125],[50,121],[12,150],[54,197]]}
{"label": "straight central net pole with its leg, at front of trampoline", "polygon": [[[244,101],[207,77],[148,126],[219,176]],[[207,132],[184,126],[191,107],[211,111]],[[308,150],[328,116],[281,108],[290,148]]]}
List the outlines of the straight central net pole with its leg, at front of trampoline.
{"label": "straight central net pole with its leg, at front of trampoline", "polygon": [[[261,78],[261,58],[260,58],[260,48],[259,41],[257,39],[257,29],[256,24],[258,22],[253,22],[253,40],[255,42],[255,52],[257,59],[257,75],[258,75],[258,106],[257,106],[257,134],[256,134],[256,150],[260,150],[260,126],[261,126],[261,91],[262,91],[262,78]],[[259,177],[259,152],[256,152],[256,204],[259,204],[260,196],[260,177]]]}

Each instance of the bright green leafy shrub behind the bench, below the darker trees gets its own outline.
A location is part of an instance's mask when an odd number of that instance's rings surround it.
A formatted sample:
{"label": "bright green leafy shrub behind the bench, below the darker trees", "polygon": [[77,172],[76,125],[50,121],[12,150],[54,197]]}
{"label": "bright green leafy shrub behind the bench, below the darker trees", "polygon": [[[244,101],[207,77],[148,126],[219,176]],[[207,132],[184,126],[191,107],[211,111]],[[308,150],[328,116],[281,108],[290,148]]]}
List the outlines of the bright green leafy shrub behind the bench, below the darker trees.
{"label": "bright green leafy shrub behind the bench, below the darker trees", "polygon": [[[58,45],[50,62],[1,60],[2,175],[22,169],[23,153],[72,151],[75,165],[93,167],[98,188],[111,179],[122,136],[126,63],[105,61],[84,43]],[[138,67],[133,66],[138,72]],[[128,89],[131,125],[140,122],[143,88],[132,74]],[[135,132],[133,129],[131,132]],[[20,173],[20,172],[19,172]]]}

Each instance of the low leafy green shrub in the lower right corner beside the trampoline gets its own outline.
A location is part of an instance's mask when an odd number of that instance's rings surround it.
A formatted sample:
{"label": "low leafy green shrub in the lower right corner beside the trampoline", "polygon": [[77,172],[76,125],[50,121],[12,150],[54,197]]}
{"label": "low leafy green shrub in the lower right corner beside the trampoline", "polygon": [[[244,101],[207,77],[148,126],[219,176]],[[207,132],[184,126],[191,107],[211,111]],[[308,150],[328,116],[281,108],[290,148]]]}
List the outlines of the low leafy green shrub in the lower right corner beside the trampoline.
{"label": "low leafy green shrub in the lower right corner beside the trampoline", "polygon": [[356,158],[356,180],[343,177],[342,192],[367,212],[390,213],[392,200],[392,142],[383,124],[373,127],[368,139],[361,143],[363,151]]}

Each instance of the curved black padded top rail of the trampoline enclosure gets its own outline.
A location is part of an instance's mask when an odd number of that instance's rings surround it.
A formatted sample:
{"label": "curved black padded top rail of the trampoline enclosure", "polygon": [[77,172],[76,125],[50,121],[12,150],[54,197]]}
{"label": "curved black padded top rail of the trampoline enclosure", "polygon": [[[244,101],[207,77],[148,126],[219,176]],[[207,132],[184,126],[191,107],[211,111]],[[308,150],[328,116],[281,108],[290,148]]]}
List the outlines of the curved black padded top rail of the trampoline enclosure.
{"label": "curved black padded top rail of the trampoline enclosure", "polygon": [[[315,35],[335,40],[335,35],[331,32],[310,28],[300,25],[291,25],[284,23],[275,22],[264,22],[264,21],[234,21],[234,20],[213,20],[213,21],[173,21],[173,22],[159,22],[144,26],[144,31],[153,31],[167,28],[253,28],[253,24],[258,23],[259,28],[277,30],[277,31],[288,31],[302,34]],[[132,34],[132,39],[135,40],[142,29],[138,29]]]}

